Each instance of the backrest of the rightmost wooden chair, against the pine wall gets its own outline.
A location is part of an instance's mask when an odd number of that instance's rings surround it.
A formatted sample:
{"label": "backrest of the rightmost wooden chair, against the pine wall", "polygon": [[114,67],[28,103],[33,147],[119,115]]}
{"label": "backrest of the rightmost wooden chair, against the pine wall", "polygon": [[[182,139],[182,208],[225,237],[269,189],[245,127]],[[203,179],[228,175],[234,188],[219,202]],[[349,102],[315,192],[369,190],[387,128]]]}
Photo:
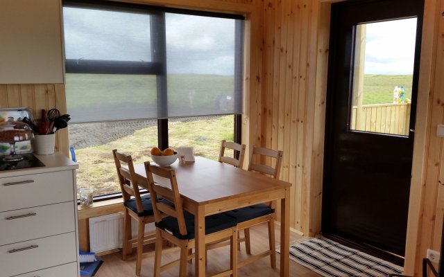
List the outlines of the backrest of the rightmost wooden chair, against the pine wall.
{"label": "backrest of the rightmost wooden chair, against the pine wall", "polygon": [[[266,166],[262,163],[255,163],[255,155],[259,155],[261,157],[270,157],[275,159],[274,166]],[[261,172],[267,175],[271,175],[271,177],[275,179],[278,179],[281,163],[282,163],[282,151],[273,150],[269,148],[253,147],[253,151],[250,152],[250,163],[248,163],[248,170]]]}

